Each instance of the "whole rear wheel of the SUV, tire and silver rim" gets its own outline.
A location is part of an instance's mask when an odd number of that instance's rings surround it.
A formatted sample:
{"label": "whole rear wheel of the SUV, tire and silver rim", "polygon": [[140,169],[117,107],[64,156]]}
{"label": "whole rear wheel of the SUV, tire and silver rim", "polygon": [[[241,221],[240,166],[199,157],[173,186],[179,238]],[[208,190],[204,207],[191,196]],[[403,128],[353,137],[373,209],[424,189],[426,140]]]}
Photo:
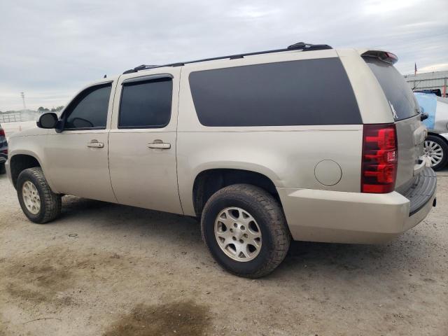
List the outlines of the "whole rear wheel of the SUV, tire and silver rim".
{"label": "whole rear wheel of the SUV, tire and silver rim", "polygon": [[262,188],[236,184],[218,190],[202,211],[202,238],[229,272],[259,278],[285,258],[290,233],[283,211]]}

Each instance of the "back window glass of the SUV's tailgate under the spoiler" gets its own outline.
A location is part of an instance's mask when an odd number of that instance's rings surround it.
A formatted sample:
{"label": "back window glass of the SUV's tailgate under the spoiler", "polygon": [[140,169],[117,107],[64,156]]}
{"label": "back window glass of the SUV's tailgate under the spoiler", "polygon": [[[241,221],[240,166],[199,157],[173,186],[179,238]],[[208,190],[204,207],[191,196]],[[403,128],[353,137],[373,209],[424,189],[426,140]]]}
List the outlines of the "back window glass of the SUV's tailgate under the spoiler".
{"label": "back window glass of the SUV's tailgate under the spoiler", "polygon": [[364,57],[379,85],[384,91],[395,120],[402,120],[415,116],[416,102],[411,88],[397,69],[391,64],[382,62],[374,57]]}

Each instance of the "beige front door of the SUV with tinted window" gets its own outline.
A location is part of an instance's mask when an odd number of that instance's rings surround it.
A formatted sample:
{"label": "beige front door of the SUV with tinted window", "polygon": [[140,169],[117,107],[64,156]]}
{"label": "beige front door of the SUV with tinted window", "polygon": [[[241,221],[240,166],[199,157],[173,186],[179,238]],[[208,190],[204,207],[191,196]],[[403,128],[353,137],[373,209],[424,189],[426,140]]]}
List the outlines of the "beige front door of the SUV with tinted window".
{"label": "beige front door of the SUV with tinted window", "polygon": [[48,134],[45,160],[57,193],[116,202],[107,153],[112,89],[109,82],[80,92],[62,114],[62,132]]}

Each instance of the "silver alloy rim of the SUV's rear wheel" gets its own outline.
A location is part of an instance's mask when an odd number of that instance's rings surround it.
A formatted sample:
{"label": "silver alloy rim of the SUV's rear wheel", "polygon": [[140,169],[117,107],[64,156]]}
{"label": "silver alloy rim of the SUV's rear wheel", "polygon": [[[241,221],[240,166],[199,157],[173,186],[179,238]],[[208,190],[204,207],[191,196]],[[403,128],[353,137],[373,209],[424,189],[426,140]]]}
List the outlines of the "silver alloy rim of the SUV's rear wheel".
{"label": "silver alloy rim of the SUV's rear wheel", "polygon": [[248,211],[230,207],[216,217],[214,233],[221,251],[232,260],[247,262],[260,253],[260,226]]}

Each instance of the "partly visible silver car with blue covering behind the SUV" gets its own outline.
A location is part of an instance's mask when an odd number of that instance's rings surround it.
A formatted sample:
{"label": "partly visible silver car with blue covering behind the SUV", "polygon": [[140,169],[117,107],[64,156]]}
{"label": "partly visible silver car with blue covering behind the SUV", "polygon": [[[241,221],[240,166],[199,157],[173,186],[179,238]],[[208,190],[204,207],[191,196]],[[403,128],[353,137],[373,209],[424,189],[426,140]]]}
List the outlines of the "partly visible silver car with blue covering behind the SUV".
{"label": "partly visible silver car with blue covering behind the SUV", "polygon": [[433,93],[414,92],[422,113],[428,118],[423,124],[428,128],[423,154],[434,170],[440,170],[448,161],[448,98]]}

